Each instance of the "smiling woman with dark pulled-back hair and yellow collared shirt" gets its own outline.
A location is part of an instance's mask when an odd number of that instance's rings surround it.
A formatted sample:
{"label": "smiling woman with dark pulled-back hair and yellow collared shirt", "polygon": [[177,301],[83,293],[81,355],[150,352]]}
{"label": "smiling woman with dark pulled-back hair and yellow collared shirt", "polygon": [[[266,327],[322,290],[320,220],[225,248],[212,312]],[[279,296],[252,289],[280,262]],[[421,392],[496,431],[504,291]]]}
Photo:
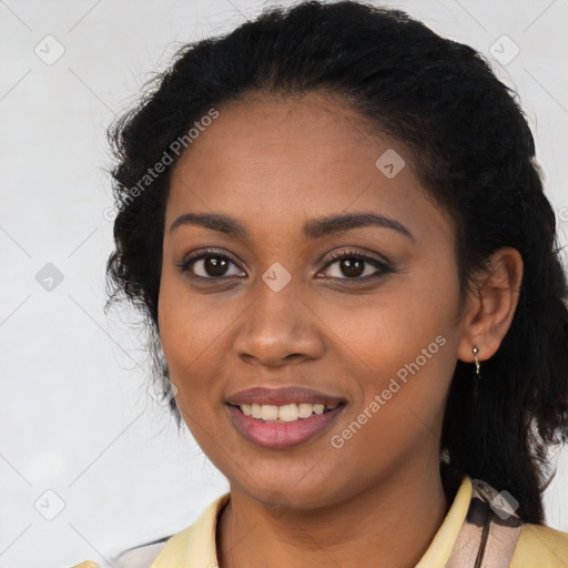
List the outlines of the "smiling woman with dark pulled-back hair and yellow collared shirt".
{"label": "smiling woman with dark pulled-back hair and yellow collared shirt", "polygon": [[306,2],[185,47],[113,140],[110,301],[231,487],[118,565],[567,566],[567,282],[477,52]]}

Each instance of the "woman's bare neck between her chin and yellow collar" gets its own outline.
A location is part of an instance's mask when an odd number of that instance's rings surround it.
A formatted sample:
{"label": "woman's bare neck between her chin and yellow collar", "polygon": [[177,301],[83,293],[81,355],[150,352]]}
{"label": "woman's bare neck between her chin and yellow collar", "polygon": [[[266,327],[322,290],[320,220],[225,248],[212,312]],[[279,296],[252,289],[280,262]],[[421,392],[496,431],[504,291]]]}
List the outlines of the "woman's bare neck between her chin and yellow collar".
{"label": "woman's bare neck between her chin and yellow collar", "polygon": [[420,464],[333,506],[280,515],[232,488],[217,525],[219,566],[414,567],[452,499],[444,491],[438,462],[427,469]]}

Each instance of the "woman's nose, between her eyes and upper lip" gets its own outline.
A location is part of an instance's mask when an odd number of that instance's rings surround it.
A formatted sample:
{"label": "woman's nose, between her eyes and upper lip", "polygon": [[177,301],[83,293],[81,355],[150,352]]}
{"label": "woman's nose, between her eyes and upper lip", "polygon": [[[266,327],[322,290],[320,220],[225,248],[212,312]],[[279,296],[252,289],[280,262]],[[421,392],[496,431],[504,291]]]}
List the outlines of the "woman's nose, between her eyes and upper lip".
{"label": "woman's nose, between her eyes and upper lip", "polygon": [[306,298],[296,293],[294,280],[280,291],[263,281],[256,287],[255,300],[243,314],[235,337],[239,357],[267,367],[321,357],[324,352],[321,321]]}

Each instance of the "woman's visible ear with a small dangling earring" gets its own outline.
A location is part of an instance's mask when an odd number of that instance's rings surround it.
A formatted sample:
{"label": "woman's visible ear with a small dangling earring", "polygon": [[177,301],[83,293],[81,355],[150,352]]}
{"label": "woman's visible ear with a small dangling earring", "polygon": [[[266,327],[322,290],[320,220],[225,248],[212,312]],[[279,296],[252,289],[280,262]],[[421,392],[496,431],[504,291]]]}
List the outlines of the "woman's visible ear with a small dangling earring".
{"label": "woman's visible ear with a small dangling earring", "polygon": [[510,246],[495,252],[488,268],[477,275],[475,290],[466,300],[459,359],[474,362],[474,346],[479,348],[479,361],[493,357],[509,331],[521,282],[520,253]]}

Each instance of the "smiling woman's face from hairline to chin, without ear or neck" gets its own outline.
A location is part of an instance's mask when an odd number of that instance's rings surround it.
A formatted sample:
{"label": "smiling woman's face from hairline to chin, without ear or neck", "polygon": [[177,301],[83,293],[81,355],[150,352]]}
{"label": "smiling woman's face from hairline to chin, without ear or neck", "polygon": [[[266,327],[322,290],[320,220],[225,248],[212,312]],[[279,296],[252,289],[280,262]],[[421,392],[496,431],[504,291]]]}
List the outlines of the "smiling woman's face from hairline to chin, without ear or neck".
{"label": "smiling woman's face from hairline to chin, without ear or neck", "polygon": [[332,505],[437,467],[465,341],[452,221],[405,148],[342,101],[219,112],[165,214],[159,324],[190,430],[267,504]]}

